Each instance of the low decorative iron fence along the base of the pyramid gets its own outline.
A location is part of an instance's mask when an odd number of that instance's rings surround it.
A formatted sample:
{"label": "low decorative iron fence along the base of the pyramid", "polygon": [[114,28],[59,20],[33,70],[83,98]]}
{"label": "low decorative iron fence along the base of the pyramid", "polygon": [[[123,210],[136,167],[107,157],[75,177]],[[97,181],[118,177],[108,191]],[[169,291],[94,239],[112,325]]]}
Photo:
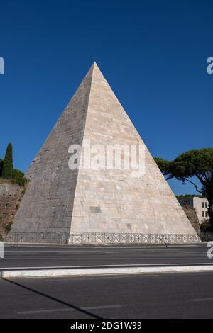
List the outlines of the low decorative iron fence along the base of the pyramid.
{"label": "low decorative iron fence along the base of the pyramid", "polygon": [[201,242],[196,235],[121,234],[107,232],[9,233],[5,242],[58,243],[58,244],[186,244]]}

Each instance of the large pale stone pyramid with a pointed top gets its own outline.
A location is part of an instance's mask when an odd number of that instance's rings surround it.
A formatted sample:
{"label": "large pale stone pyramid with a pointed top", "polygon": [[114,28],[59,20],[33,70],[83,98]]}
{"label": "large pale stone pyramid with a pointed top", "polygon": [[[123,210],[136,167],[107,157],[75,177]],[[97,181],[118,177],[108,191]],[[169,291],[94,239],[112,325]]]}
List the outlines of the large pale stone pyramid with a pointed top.
{"label": "large pale stone pyramid with a pointed top", "polygon": [[[78,167],[70,169],[70,157],[75,156],[70,154],[72,145],[101,145],[106,152],[111,145],[140,146],[141,174],[128,167],[115,168],[114,162],[108,165],[107,159],[104,164],[97,159],[97,167],[92,169],[83,149],[76,155]],[[121,162],[126,154],[121,152]],[[36,235],[38,242],[51,242],[51,235],[57,235],[57,242],[70,243],[200,242],[96,63],[50,132],[26,177],[30,181],[10,234],[21,235],[20,239]],[[33,236],[32,239],[35,240]]]}

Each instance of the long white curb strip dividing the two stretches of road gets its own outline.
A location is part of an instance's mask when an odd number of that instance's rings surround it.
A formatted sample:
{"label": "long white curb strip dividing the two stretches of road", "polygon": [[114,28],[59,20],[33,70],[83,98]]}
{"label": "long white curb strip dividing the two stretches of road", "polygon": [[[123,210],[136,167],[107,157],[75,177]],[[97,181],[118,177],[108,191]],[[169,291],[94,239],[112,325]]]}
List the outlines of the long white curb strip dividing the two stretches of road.
{"label": "long white curb strip dividing the two stretches of road", "polygon": [[213,272],[213,266],[108,267],[87,269],[28,269],[1,271],[1,278],[46,278],[57,276],[104,276],[117,274]]}

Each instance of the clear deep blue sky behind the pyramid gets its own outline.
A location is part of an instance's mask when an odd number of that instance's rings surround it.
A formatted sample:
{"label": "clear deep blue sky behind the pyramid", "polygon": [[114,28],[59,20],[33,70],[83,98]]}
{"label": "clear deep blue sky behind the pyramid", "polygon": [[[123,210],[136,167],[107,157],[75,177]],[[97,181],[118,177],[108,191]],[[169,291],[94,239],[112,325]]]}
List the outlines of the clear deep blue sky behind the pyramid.
{"label": "clear deep blue sky behind the pyramid", "polygon": [[212,147],[212,10],[206,0],[0,0],[0,158],[12,142],[14,166],[28,169],[94,60],[153,156]]}

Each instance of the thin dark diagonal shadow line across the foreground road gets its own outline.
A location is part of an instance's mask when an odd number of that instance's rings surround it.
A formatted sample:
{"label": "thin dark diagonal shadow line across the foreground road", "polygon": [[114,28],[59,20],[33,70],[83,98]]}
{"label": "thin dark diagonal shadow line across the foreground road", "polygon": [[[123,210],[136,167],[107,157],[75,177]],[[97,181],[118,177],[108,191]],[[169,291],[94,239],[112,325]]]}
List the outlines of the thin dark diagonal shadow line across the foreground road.
{"label": "thin dark diagonal shadow line across the foreground road", "polygon": [[32,288],[29,288],[29,287],[27,287],[27,286],[23,286],[23,284],[21,284],[21,283],[18,283],[18,282],[15,282],[15,281],[11,281],[11,280],[7,280],[6,278],[1,278],[1,280],[4,280],[4,281],[6,281],[6,282],[8,282],[8,283],[12,283],[13,285],[18,286],[18,287],[21,287],[21,288],[23,288],[23,289],[25,289],[25,290],[29,290],[29,291],[31,291],[32,293],[35,293],[35,294],[37,294],[37,295],[43,296],[43,297],[45,297],[45,298],[48,298],[49,300],[54,300],[54,301],[57,302],[57,303],[60,303],[60,304],[65,305],[65,306],[67,306],[67,307],[70,307],[70,309],[74,309],[74,310],[77,310],[77,311],[79,311],[79,312],[82,312],[82,313],[84,313],[84,315],[89,315],[90,317],[93,317],[93,318],[95,318],[95,319],[103,319],[102,317],[99,317],[98,315],[94,315],[94,313],[92,313],[92,312],[89,312],[89,311],[87,311],[87,310],[81,309],[80,307],[77,307],[77,306],[75,306],[75,305],[72,305],[72,304],[69,304],[69,303],[67,303],[67,302],[64,302],[63,300],[58,300],[58,298],[55,298],[55,297],[53,297],[53,296],[51,296],[51,295],[47,295],[47,294],[45,294],[45,293],[41,293],[41,292],[38,291],[38,290],[35,290],[35,289],[32,289]]}

